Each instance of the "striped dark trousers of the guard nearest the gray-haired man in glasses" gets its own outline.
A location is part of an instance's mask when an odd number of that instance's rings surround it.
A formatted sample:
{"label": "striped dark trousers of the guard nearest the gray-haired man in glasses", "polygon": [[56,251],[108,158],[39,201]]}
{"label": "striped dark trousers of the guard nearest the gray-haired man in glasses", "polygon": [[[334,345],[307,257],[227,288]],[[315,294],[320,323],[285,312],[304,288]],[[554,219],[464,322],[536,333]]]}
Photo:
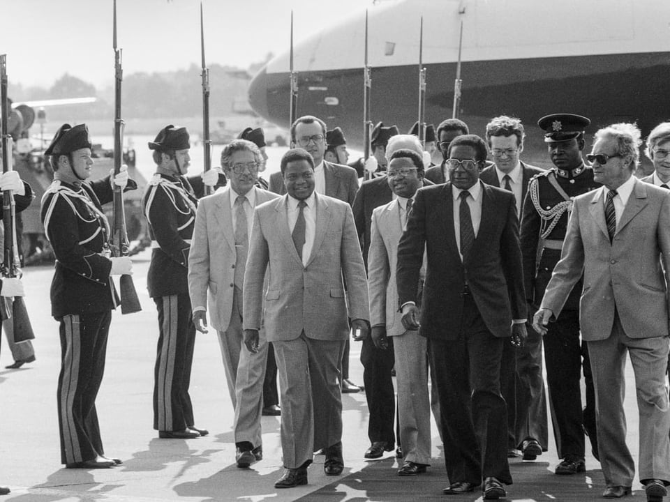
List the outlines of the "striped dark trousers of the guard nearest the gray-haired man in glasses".
{"label": "striped dark trousers of the guard nearest the gray-haired man in glasses", "polygon": [[177,431],[193,423],[188,395],[195,326],[188,293],[154,298],[158,309],[158,350],[154,368],[154,429]]}

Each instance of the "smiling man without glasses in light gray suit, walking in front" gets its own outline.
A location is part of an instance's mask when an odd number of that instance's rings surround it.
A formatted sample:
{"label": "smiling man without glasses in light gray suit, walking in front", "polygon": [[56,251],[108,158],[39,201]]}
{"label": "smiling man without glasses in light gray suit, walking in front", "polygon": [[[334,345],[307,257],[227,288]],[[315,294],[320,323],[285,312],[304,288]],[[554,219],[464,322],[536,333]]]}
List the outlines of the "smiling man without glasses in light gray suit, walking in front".
{"label": "smiling man without glasses in light gray suit, walking in front", "polygon": [[[244,274],[244,343],[258,347],[262,324],[276,354],[281,390],[283,476],[276,488],[307,484],[313,452],[324,471],[343,471],[337,381],[348,339],[368,333],[368,290],[351,208],[314,190],[314,160],[303,149],[281,160],[287,195],[256,208]],[[343,280],[347,284],[345,294]]]}

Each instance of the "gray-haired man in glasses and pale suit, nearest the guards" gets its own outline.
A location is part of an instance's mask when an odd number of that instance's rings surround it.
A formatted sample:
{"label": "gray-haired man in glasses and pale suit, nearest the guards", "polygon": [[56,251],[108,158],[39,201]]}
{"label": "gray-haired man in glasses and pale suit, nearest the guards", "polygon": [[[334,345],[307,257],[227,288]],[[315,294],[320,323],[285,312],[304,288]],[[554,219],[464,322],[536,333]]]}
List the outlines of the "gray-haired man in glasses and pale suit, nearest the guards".
{"label": "gray-haired man in glasses and pale suit, nearest the guards", "polygon": [[258,146],[246,139],[235,139],[223,149],[221,165],[228,185],[200,199],[188,254],[193,324],[207,333],[209,306],[235,407],[236,461],[241,468],[262,459],[260,419],[268,348],[265,330],[260,330],[257,353],[241,349],[242,285],[253,209],[278,197],[254,185],[261,163]]}

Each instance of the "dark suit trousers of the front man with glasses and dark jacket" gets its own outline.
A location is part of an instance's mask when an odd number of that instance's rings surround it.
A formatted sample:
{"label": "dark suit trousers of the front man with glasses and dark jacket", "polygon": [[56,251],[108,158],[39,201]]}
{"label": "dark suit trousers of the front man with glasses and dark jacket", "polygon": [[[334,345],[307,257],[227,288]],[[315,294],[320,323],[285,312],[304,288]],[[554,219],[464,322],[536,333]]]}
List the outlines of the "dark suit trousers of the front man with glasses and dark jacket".
{"label": "dark suit trousers of the front man with glasses and dark jacket", "polygon": [[507,406],[500,394],[503,344],[486,328],[472,296],[456,340],[429,339],[440,395],[449,482],[479,485],[493,476],[512,483],[507,463]]}

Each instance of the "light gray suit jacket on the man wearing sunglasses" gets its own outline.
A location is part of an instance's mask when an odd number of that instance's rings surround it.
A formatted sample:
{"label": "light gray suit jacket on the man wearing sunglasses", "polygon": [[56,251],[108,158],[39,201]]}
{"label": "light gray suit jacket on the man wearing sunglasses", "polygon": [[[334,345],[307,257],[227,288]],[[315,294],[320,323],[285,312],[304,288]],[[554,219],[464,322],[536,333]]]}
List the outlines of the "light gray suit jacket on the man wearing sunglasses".
{"label": "light gray suit jacket on the man wearing sunglasses", "polygon": [[583,340],[611,335],[615,307],[627,336],[668,336],[670,275],[662,257],[670,257],[670,192],[636,179],[612,243],[602,190],[580,195],[540,308],[558,317],[583,271]]}

